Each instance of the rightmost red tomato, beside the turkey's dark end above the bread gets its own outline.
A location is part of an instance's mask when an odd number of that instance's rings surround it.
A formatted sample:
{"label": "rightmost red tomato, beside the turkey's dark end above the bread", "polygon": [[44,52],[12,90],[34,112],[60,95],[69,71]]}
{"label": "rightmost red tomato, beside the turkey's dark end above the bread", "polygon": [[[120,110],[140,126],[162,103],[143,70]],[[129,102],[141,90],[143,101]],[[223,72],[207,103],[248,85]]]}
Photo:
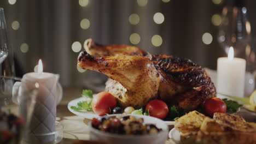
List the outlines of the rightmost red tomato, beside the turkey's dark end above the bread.
{"label": "rightmost red tomato, beside the turkey's dark end above the bread", "polygon": [[205,107],[205,112],[210,116],[213,116],[215,112],[226,113],[226,104],[220,98],[213,97],[213,98],[207,99],[205,101],[204,107]]}

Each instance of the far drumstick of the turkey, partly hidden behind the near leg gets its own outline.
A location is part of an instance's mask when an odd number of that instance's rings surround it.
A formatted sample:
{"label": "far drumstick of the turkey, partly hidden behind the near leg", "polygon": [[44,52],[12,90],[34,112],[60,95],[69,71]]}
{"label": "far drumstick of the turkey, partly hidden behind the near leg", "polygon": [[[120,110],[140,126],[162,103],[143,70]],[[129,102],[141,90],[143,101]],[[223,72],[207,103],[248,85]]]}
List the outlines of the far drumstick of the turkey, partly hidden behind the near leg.
{"label": "far drumstick of the turkey, partly hidden behind the near leg", "polygon": [[87,39],[84,42],[85,51],[91,56],[145,56],[147,53],[138,47],[131,45],[100,45],[96,44],[94,40]]}

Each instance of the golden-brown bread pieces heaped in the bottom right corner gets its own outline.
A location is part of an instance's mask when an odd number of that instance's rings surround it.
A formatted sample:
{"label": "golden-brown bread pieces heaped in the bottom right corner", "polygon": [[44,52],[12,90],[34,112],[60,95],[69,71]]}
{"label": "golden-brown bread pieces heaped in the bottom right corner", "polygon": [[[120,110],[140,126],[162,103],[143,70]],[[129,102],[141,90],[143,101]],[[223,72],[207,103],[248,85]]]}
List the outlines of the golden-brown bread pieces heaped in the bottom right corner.
{"label": "golden-brown bread pieces heaped in the bottom right corner", "polygon": [[[201,118],[199,115],[194,116]],[[191,120],[194,119],[196,118]],[[190,119],[187,119],[188,121]],[[194,127],[198,127],[198,124],[196,123]],[[209,117],[203,119],[200,130],[185,131],[181,134],[181,140],[182,143],[256,143],[256,123],[245,122],[240,116],[216,113],[214,119]]]}

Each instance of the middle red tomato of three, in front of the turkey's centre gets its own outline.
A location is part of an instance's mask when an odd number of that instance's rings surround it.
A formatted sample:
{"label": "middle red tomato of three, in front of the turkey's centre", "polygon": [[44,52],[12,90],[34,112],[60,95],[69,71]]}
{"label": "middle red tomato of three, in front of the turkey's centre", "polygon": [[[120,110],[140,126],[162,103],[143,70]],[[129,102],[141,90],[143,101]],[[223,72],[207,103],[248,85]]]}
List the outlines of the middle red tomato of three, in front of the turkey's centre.
{"label": "middle red tomato of three, in front of the turkey's centre", "polygon": [[164,119],[168,115],[168,106],[164,101],[155,99],[148,102],[146,109],[149,112],[149,116]]}

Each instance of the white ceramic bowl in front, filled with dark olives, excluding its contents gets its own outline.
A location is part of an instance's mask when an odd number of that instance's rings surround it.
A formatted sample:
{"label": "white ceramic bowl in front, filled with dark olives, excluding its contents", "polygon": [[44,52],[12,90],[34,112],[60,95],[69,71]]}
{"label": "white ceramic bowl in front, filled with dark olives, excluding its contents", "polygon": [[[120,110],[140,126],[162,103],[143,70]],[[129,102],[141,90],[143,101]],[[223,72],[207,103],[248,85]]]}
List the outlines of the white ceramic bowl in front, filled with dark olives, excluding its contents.
{"label": "white ceramic bowl in front, filled with dark olives, excluding its contents", "polygon": [[[107,117],[119,116],[122,114],[117,115],[109,115]],[[107,141],[109,143],[123,143],[123,144],[140,144],[140,143],[147,143],[147,144],[155,144],[155,143],[165,143],[167,136],[168,136],[168,126],[167,124],[162,121],[161,119],[143,115],[130,115],[137,118],[143,118],[144,123],[153,123],[156,124],[156,127],[161,128],[158,134],[155,135],[118,135],[118,134],[110,134],[100,130],[97,130],[89,124],[89,134],[90,140],[97,140],[97,141]]]}

